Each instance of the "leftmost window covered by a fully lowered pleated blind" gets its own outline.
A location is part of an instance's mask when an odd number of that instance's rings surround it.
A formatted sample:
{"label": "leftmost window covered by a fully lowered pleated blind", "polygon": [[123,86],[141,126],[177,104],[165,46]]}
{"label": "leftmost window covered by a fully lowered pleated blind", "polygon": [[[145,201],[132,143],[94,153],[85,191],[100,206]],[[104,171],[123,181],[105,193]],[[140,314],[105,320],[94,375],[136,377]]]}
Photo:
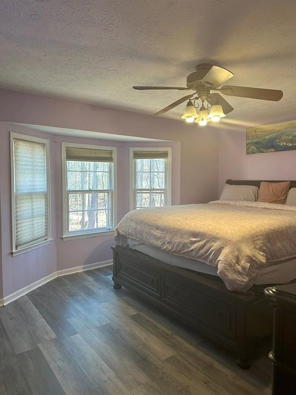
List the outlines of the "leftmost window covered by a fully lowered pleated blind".
{"label": "leftmost window covered by a fully lowered pleated blind", "polygon": [[11,133],[12,253],[50,237],[49,141]]}

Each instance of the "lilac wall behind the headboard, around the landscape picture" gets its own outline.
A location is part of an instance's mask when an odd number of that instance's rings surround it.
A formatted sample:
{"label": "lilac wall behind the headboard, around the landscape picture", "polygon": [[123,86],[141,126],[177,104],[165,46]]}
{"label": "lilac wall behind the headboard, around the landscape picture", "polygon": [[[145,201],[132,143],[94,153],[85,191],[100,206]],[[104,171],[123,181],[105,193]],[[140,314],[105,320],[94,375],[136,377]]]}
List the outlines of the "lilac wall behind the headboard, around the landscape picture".
{"label": "lilac wall behind the headboard, around the landscape picture", "polygon": [[227,178],[296,179],[296,151],[246,154],[246,129],[219,135],[219,193]]}

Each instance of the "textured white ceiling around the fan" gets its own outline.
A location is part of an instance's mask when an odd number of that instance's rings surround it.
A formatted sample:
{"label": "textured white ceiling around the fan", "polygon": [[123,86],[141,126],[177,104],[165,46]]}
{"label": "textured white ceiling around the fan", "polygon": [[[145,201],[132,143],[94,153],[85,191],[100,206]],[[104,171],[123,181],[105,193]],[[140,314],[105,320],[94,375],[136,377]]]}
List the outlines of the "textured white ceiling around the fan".
{"label": "textured white ceiling around the fan", "polygon": [[132,85],[184,86],[211,62],[234,73],[229,84],[284,91],[228,97],[229,122],[295,115],[294,0],[1,0],[0,11],[3,88],[153,114],[184,93]]}

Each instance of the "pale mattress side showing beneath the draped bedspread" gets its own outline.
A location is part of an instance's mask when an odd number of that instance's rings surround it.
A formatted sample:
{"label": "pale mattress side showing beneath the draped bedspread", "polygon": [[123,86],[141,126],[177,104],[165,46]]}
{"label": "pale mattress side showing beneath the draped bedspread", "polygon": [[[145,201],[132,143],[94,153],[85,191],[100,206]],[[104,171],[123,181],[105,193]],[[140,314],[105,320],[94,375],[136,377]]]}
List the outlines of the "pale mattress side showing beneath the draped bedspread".
{"label": "pale mattress side showing beneath the draped bedspread", "polygon": [[[161,249],[151,247],[150,245],[139,243],[136,240],[128,239],[128,246],[140,253],[149,255],[161,262],[173,266],[183,267],[195,272],[218,276],[217,267],[209,266],[205,263],[198,262],[194,259],[183,258],[167,253]],[[273,262],[267,267],[261,268],[255,284],[286,284],[296,279],[296,258],[285,261]]]}

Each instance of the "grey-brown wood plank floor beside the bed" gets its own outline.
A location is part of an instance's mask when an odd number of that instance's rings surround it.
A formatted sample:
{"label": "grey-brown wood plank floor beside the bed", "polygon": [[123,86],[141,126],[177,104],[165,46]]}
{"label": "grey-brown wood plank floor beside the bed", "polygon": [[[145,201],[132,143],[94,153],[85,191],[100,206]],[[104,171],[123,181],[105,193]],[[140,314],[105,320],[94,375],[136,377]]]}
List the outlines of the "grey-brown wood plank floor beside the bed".
{"label": "grey-brown wood plank floor beside the bed", "polygon": [[132,293],[109,267],[0,308],[0,394],[270,394],[268,348],[248,371]]}

